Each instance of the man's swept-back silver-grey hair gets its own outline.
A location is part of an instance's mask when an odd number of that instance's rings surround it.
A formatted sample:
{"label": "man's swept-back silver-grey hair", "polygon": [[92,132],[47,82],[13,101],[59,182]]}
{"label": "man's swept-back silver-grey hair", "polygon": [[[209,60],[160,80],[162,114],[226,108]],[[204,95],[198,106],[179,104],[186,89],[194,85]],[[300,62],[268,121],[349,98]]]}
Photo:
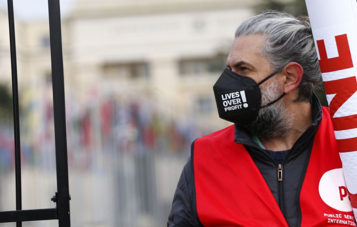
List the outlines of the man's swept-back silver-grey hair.
{"label": "man's swept-back silver-grey hair", "polygon": [[266,36],[261,55],[270,62],[273,70],[280,72],[290,62],[302,66],[304,74],[295,101],[310,101],[313,89],[322,82],[322,77],[308,17],[267,11],[245,20],[235,37],[251,34]]}

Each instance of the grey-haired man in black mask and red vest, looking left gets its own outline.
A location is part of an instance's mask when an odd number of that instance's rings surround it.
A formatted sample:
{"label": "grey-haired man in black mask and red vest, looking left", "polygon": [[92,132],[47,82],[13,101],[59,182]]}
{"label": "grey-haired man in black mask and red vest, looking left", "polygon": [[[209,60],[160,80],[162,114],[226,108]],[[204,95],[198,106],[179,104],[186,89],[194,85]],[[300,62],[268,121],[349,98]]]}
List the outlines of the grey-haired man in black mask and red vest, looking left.
{"label": "grey-haired man in black mask and red vest, looking left", "polygon": [[[348,200],[331,207],[322,195],[341,161],[313,94],[321,81],[307,17],[244,21],[213,86],[220,117],[235,124],[193,143],[167,226],[356,226]],[[343,200],[341,187],[327,197]]]}

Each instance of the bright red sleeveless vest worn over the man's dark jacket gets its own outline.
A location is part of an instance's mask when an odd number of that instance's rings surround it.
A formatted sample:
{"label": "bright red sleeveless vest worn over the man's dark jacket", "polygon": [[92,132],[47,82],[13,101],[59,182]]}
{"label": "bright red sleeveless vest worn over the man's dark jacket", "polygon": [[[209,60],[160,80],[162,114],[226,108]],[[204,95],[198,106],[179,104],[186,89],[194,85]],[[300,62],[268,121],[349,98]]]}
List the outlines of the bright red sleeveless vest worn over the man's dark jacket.
{"label": "bright red sleeveless vest worn over the man's dark jacket", "polygon": [[[205,227],[288,226],[249,153],[234,142],[234,126],[196,140],[193,161],[197,214]],[[301,226],[356,226],[349,201],[343,203],[348,196],[341,168],[328,109],[323,108],[300,193]]]}

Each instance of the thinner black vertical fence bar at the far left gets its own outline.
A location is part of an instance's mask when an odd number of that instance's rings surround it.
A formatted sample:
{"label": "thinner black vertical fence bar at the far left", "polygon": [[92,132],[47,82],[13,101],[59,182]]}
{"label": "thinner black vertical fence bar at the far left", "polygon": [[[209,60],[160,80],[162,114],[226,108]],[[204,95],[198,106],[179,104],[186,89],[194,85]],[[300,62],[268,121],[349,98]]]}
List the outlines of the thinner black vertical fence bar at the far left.
{"label": "thinner black vertical fence bar at the far left", "polygon": [[[17,63],[16,63],[16,42],[15,42],[13,0],[7,0],[7,10],[9,15],[11,73],[12,73],[13,108],[14,108],[16,210],[19,211],[22,210],[21,150],[20,150],[20,123],[19,123],[19,113],[18,113]],[[16,222],[16,227],[21,227],[21,226],[22,226],[21,222]]]}

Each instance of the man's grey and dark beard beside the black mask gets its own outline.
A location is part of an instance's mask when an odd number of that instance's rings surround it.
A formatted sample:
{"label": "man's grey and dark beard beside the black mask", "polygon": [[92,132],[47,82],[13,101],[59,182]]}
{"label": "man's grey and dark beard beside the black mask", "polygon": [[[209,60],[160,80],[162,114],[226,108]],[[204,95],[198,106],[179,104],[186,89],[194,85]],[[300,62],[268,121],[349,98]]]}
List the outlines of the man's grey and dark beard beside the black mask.
{"label": "man's grey and dark beard beside the black mask", "polygon": [[[276,100],[280,95],[278,81],[273,79],[269,85],[261,88],[261,106]],[[264,140],[287,137],[291,133],[291,127],[292,115],[286,111],[284,100],[281,98],[270,106],[260,108],[257,119],[248,126],[248,129],[260,140]]]}

